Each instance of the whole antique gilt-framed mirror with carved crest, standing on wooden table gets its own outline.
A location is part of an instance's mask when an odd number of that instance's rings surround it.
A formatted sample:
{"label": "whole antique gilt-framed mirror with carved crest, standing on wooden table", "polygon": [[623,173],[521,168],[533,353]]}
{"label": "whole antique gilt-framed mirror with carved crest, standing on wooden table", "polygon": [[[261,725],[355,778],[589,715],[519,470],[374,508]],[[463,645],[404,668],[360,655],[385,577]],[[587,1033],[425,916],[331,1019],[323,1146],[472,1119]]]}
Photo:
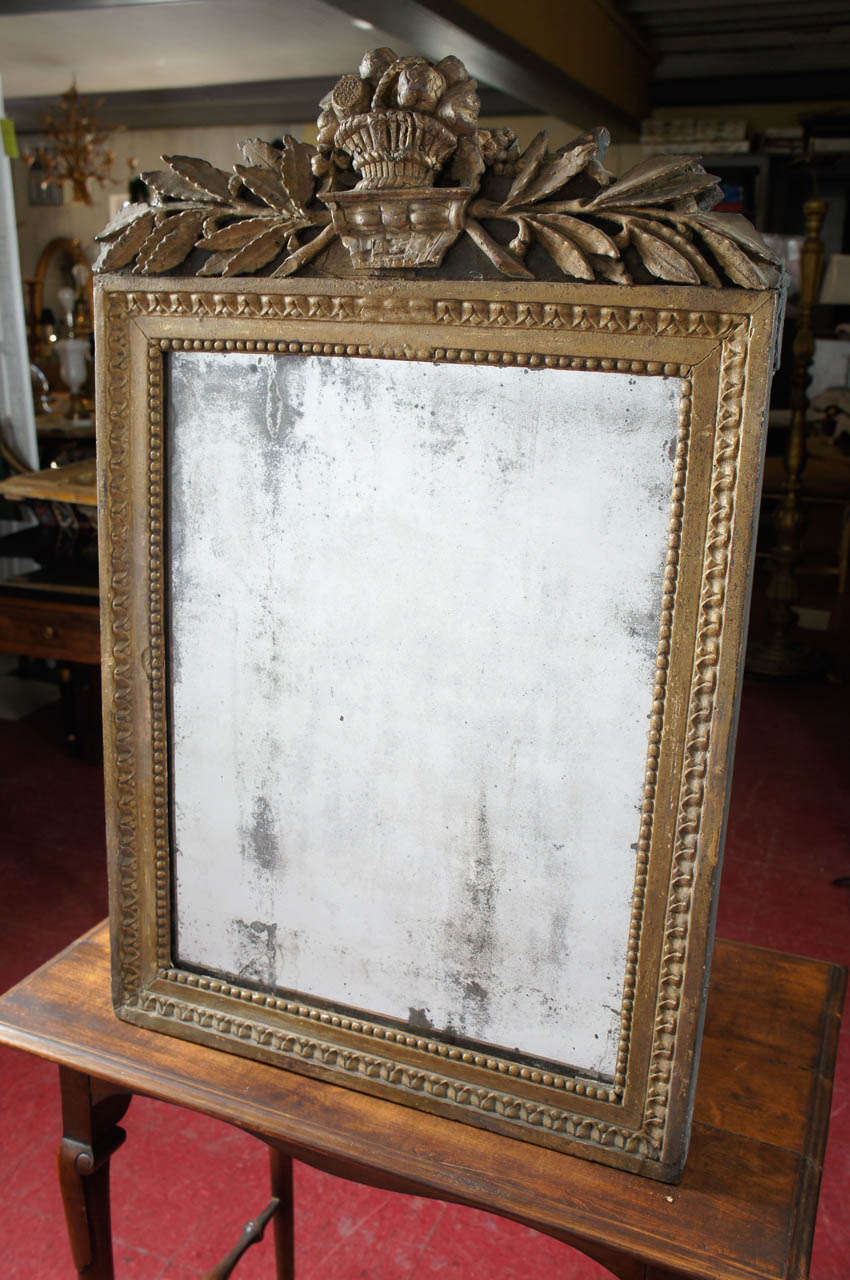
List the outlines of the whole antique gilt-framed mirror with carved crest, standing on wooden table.
{"label": "whole antique gilt-framed mirror with carved crest, standing on wooden table", "polygon": [[673,1180],[769,251],[693,160],[520,154],[387,54],[104,233],[115,1006]]}

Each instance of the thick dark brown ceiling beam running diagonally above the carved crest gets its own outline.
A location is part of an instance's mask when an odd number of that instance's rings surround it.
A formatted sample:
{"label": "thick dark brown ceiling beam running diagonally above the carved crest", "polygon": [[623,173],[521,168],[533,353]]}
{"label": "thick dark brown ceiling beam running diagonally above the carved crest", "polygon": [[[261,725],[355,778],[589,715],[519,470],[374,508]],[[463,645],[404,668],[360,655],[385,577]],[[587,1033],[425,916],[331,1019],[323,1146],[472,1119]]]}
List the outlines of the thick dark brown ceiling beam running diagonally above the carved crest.
{"label": "thick dark brown ceiling beam running diagonally above the carved crest", "polygon": [[[617,100],[621,84],[612,77],[609,92],[591,88],[550,58],[535,52],[493,22],[474,13],[457,0],[330,0],[351,18],[407,41],[425,56],[439,59],[456,54],[479,81],[526,102],[529,108],[571,120],[581,128],[600,123],[620,123],[634,128],[645,114],[645,91],[650,58],[634,35],[635,47],[645,63],[641,92],[632,105]],[[550,6],[549,6],[550,8]],[[622,28],[625,19],[613,14],[602,0],[589,0],[605,19]],[[525,10],[526,17],[529,10]],[[621,47],[621,46],[620,46]],[[561,44],[553,41],[556,56]]]}

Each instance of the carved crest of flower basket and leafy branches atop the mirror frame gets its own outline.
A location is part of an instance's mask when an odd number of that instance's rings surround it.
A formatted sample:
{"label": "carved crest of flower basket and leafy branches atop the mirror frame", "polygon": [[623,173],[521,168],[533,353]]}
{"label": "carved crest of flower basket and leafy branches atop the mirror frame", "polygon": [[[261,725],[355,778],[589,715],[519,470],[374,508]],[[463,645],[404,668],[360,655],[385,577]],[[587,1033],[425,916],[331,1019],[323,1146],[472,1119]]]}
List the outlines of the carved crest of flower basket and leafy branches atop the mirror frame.
{"label": "carved crest of flower basket and leafy branches atop the mirror frame", "polygon": [[466,246],[466,275],[777,283],[746,219],[710,211],[717,179],[693,156],[653,156],[616,178],[603,128],[557,151],[541,132],[520,154],[509,129],[479,128],[476,88],[457,58],[373,50],[320,102],[317,146],[248,138],[229,174],[164,156],[142,175],[150,204],[125,205],[97,237],[96,270],[329,275],[342,244],[373,274],[437,268]]}

